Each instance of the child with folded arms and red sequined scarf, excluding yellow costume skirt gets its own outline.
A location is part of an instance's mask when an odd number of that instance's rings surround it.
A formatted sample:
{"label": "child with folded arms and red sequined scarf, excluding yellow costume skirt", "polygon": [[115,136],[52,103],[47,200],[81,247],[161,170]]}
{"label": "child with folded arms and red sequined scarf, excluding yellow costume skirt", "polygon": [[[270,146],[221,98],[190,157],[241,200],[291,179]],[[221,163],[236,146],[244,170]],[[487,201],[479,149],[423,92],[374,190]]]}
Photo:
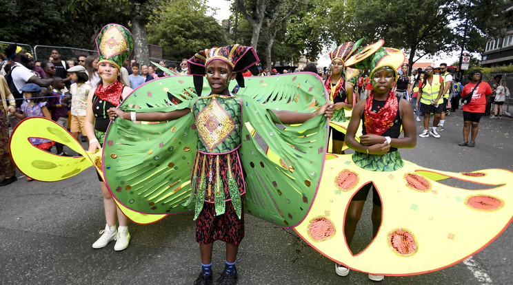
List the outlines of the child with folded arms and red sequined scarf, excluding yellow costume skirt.
{"label": "child with folded arms and red sequined scarf, excluding yellow costume skirt", "polygon": [[[391,56],[380,47],[371,57],[374,58],[369,59],[368,68],[371,70],[370,81],[373,91],[368,98],[355,105],[345,143],[356,151],[352,158],[359,167],[373,171],[394,171],[403,167],[397,148],[412,148],[416,145],[412,106],[391,91],[392,83],[397,78],[396,70],[403,62],[404,56]],[[351,63],[352,61],[349,61],[348,65]],[[358,142],[355,135],[360,123],[363,125],[363,136]],[[399,138],[401,127],[404,130],[403,138]],[[360,220],[363,204],[371,187],[372,184],[362,187],[349,204],[344,226],[348,246],[352,242],[356,224]],[[374,188],[372,192],[372,237],[375,237],[381,225],[381,200]],[[336,273],[341,276],[348,275],[349,268],[336,264]],[[381,281],[384,277],[369,274],[369,278],[372,281]]]}

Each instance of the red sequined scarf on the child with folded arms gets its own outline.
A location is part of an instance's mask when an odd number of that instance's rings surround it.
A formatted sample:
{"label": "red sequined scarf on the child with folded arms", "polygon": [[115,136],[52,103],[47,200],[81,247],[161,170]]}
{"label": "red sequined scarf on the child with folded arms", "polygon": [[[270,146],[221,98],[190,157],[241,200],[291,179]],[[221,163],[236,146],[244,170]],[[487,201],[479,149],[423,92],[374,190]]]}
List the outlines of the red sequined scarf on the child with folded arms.
{"label": "red sequined scarf on the child with folded arms", "polygon": [[387,101],[379,112],[372,112],[372,101],[374,100],[374,91],[370,92],[369,98],[365,102],[363,116],[365,118],[365,131],[368,134],[383,134],[394,123],[399,101],[392,91],[388,94]]}

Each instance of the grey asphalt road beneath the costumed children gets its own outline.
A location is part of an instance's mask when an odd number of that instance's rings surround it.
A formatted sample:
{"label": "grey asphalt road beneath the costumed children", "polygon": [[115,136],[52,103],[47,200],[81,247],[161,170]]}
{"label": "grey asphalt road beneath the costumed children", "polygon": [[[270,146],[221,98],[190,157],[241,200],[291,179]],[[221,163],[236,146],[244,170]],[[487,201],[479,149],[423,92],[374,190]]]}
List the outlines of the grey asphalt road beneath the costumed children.
{"label": "grey asphalt road beneath the costumed children", "polygon": [[[421,123],[416,123],[420,134]],[[446,171],[513,170],[513,119],[483,118],[476,147],[459,147],[461,111],[451,113],[441,138],[419,138],[404,159]],[[60,182],[19,181],[0,187],[0,284],[192,284],[199,271],[192,213],[150,225],[130,224],[125,251],[91,244],[104,228],[103,204],[92,167]],[[457,182],[456,182],[457,183]],[[371,198],[371,196],[369,196]],[[370,199],[369,199],[370,200]],[[354,248],[370,242],[370,206],[354,237]],[[328,260],[294,233],[246,215],[239,249],[239,284],[368,284],[364,273],[334,273]],[[513,228],[469,260],[434,273],[386,277],[386,284],[511,284]],[[223,269],[224,249],[214,244],[214,273]]]}

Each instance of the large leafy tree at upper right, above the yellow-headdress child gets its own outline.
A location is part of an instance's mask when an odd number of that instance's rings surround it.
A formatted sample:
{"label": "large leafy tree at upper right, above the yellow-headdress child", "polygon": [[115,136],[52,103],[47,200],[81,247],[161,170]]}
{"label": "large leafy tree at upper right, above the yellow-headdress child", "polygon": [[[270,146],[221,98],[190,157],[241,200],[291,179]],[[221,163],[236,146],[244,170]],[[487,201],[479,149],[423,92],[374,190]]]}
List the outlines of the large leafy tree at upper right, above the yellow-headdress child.
{"label": "large leafy tree at upper right, above the yellow-headdress child", "polygon": [[[452,0],[396,0],[393,4],[369,0],[363,6],[358,2],[338,3],[330,12],[332,40],[356,41],[365,37],[369,43],[385,39],[385,46],[407,51],[410,66],[425,55],[456,48],[455,36],[447,25],[447,17],[454,13]],[[336,26],[346,28],[337,30]]]}

